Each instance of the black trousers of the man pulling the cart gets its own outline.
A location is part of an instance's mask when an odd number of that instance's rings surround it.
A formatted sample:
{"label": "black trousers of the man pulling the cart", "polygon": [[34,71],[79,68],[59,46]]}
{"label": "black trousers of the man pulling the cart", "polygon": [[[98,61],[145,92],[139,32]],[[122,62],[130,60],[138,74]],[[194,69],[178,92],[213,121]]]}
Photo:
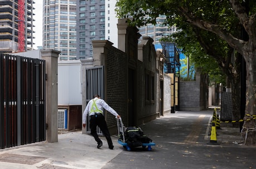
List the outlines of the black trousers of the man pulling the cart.
{"label": "black trousers of the man pulling the cart", "polygon": [[109,129],[107,129],[107,123],[105,121],[104,115],[100,114],[100,115],[91,115],[90,116],[91,135],[94,137],[95,141],[97,141],[97,143],[99,144],[102,141],[100,140],[99,136],[97,135],[97,126],[100,127],[100,130],[106,137],[107,144],[109,145],[109,147],[112,147],[113,143],[112,143],[112,140],[110,137]]}

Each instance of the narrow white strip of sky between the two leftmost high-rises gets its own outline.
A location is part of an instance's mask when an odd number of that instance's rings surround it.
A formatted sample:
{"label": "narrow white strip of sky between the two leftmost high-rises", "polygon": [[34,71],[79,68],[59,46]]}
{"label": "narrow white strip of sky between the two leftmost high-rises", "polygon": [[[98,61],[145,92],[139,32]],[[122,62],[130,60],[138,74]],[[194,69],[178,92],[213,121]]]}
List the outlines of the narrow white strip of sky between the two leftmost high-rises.
{"label": "narrow white strip of sky between the two leftmost high-rises", "polygon": [[42,46],[42,24],[43,24],[43,1],[37,0],[35,1],[35,4],[33,4],[33,7],[36,9],[33,10],[33,13],[35,13],[34,19],[36,21],[33,22],[35,27],[33,30],[35,31],[33,42],[35,45],[33,45],[34,49],[37,49],[37,47]]}

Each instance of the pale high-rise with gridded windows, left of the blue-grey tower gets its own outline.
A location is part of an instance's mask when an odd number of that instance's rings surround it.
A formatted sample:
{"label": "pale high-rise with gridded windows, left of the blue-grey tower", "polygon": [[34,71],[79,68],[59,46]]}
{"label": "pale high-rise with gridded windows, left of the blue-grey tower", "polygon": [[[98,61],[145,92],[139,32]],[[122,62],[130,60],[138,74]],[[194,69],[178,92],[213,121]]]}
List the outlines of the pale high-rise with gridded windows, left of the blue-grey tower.
{"label": "pale high-rise with gridded windows, left of the blue-grey tower", "polygon": [[76,0],[43,0],[43,48],[76,59]]}

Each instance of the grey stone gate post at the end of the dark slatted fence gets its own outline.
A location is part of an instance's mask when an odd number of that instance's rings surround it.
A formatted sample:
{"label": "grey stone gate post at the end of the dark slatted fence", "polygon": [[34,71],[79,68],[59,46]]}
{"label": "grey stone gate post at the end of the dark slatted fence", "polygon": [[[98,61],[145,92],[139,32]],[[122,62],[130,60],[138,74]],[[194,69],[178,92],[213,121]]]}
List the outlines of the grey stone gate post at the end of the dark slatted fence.
{"label": "grey stone gate post at the end of the dark slatted fence", "polygon": [[58,142],[58,54],[57,50],[41,50],[46,61],[46,141]]}

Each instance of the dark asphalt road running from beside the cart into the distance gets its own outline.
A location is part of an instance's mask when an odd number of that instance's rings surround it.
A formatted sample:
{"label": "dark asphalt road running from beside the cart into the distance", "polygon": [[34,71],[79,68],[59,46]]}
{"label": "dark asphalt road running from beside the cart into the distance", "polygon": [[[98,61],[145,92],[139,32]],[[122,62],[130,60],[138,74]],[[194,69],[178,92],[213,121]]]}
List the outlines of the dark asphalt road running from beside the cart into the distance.
{"label": "dark asphalt road running from beside the cart into the distance", "polygon": [[239,129],[222,127],[217,131],[219,145],[209,144],[212,113],[181,111],[141,125],[144,134],[156,144],[152,151],[141,147],[121,151],[102,169],[256,168],[256,147],[237,144],[242,140]]}

